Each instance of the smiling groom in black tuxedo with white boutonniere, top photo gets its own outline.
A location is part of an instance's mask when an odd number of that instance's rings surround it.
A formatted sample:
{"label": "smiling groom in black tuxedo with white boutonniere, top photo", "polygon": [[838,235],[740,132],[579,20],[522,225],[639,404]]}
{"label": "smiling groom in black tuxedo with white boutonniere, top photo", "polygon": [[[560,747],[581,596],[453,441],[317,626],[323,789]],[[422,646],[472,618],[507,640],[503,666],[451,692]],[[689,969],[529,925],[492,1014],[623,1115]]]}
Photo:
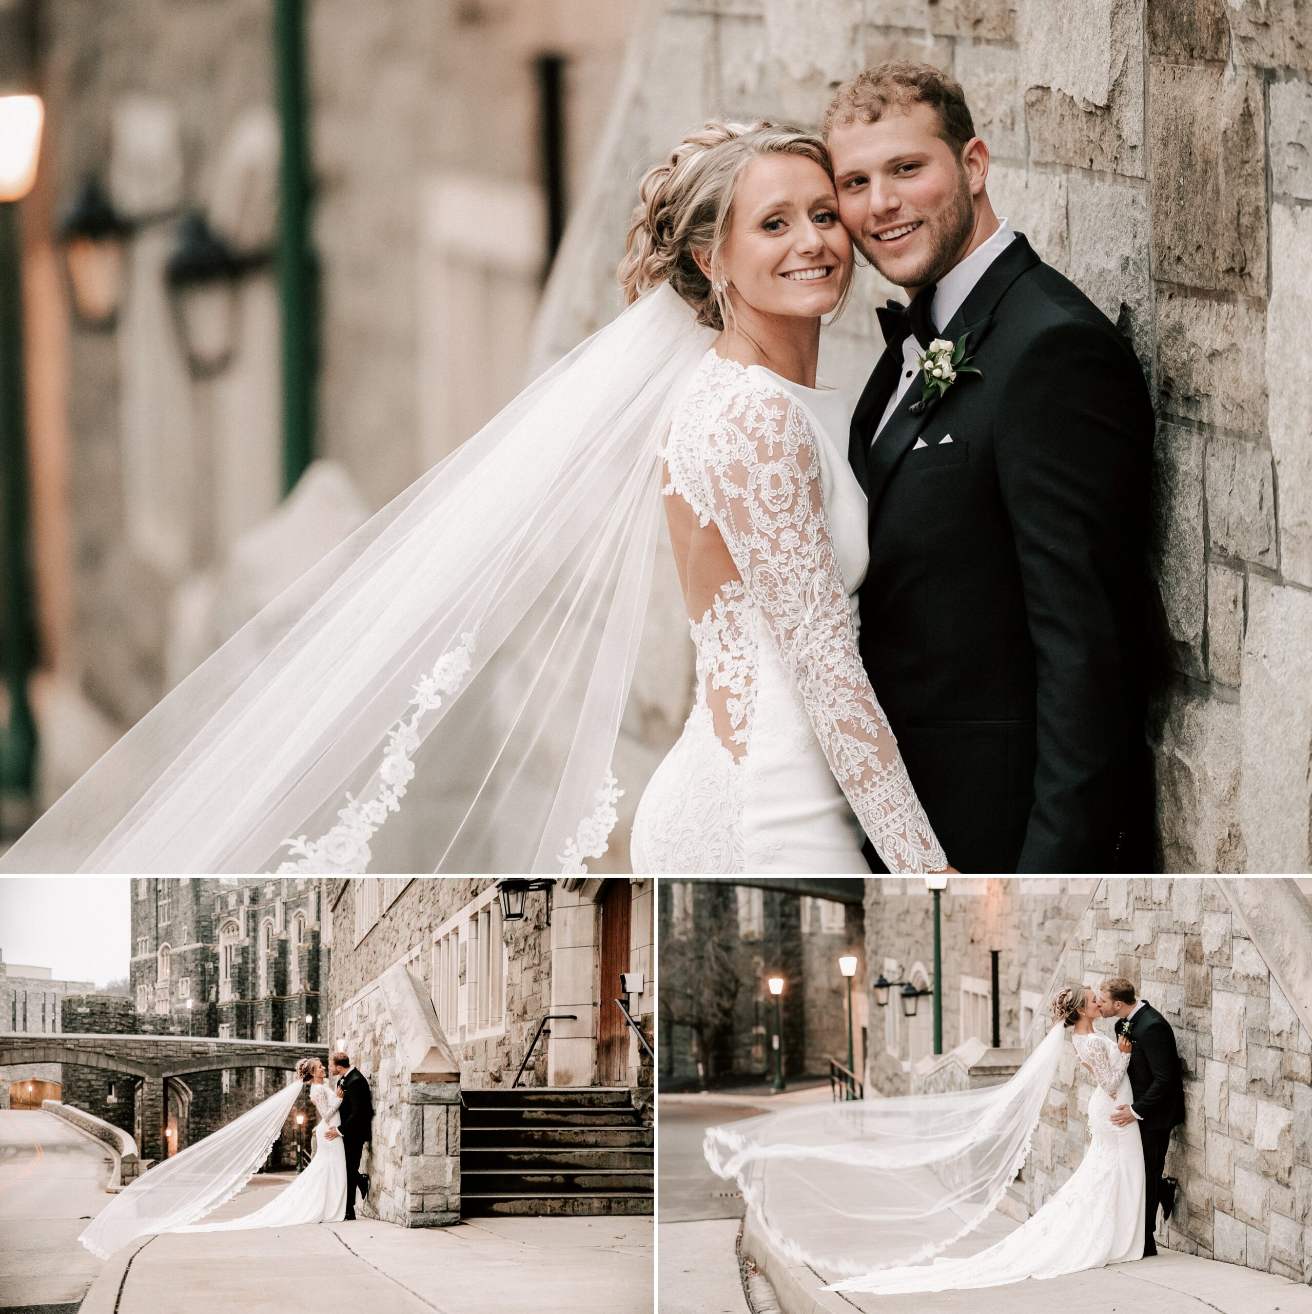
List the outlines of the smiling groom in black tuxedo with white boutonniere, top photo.
{"label": "smiling groom in black tuxedo with white boutonniere, top photo", "polygon": [[[825,137],[844,226],[911,297],[879,310],[850,449],[862,657],[911,782],[961,871],[1150,870],[1139,361],[994,214],[951,78],[868,70]],[[939,340],[952,363],[927,378]]]}

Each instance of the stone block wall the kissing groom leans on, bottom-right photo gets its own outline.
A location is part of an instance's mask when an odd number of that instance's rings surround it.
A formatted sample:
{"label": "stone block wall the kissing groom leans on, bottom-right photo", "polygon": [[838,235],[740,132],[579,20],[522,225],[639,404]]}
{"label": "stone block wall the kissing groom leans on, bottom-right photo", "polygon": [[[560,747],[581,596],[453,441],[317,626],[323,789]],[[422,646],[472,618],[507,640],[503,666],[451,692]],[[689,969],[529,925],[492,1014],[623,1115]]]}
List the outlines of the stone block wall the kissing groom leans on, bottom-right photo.
{"label": "stone block wall the kissing groom leans on, bottom-right photo", "polygon": [[[1303,899],[1298,891],[1291,896]],[[1303,911],[1305,925],[1309,911]],[[1301,936],[1303,925],[1286,934]],[[1284,950],[1303,961],[1307,943],[1291,941]],[[1312,1041],[1271,972],[1284,950],[1254,943],[1219,882],[1108,879],[1082,916],[1055,984],[1128,976],[1175,1031],[1186,1121],[1166,1159],[1179,1193],[1158,1231],[1165,1244],[1307,1282]],[[1068,1047],[1013,1188],[1031,1212],[1083,1158],[1091,1092]]]}

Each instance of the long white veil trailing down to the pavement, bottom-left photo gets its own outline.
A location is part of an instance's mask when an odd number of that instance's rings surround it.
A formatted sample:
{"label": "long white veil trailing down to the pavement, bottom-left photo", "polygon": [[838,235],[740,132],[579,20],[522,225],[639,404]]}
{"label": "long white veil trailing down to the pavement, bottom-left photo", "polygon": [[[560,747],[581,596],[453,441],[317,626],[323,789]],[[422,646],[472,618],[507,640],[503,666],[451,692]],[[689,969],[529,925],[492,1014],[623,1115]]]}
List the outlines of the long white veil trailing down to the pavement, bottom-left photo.
{"label": "long white veil trailing down to the pavement, bottom-left photo", "polygon": [[77,1239],[109,1259],[138,1236],[185,1227],[226,1204],[269,1156],[303,1085],[289,1083],[235,1122],[143,1172]]}

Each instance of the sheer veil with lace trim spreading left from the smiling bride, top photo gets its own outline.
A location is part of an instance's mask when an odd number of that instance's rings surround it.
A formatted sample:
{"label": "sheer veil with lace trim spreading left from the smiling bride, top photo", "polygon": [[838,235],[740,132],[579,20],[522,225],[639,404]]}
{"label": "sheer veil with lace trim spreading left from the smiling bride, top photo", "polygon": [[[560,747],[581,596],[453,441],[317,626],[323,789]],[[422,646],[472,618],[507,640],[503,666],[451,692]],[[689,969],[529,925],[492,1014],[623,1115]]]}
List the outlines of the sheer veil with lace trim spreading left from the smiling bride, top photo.
{"label": "sheer veil with lace trim spreading left from the smiling bride, top photo", "polygon": [[0,870],[586,870],[625,784],[659,444],[713,336],[667,285],[634,302],[193,671]]}

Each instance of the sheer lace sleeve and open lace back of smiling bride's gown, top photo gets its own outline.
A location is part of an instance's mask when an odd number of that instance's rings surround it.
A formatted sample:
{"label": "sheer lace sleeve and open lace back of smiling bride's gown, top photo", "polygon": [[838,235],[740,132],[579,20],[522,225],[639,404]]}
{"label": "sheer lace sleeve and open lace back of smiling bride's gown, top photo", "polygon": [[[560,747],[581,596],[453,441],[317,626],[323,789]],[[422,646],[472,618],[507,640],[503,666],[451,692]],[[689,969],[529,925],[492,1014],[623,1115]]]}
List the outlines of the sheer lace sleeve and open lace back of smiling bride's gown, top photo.
{"label": "sheer lace sleeve and open lace back of smiling bride's gown, top photo", "polygon": [[[683,578],[697,649],[695,715],[709,715],[721,745],[741,759],[754,733],[759,648],[768,643],[888,869],[942,870],[943,849],[856,646],[821,443],[781,382],[709,351],[666,442],[665,491],[696,516]],[[693,599],[705,598],[699,610]]]}

